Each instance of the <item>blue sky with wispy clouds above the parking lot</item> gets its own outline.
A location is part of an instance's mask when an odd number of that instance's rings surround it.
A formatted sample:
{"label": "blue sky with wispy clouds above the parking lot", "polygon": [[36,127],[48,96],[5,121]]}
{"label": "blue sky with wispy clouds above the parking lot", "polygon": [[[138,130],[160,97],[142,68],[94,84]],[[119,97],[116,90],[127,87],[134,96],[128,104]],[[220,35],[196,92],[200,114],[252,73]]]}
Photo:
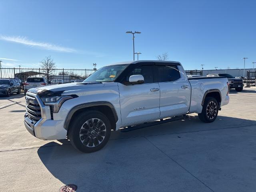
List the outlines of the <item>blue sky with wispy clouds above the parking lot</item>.
{"label": "blue sky with wispy clouds above the parking lot", "polygon": [[[185,69],[252,68],[256,62],[254,0],[3,0],[0,60],[38,67],[52,56],[59,68],[97,68],[132,60],[169,60]],[[11,60],[6,60],[11,59]]]}

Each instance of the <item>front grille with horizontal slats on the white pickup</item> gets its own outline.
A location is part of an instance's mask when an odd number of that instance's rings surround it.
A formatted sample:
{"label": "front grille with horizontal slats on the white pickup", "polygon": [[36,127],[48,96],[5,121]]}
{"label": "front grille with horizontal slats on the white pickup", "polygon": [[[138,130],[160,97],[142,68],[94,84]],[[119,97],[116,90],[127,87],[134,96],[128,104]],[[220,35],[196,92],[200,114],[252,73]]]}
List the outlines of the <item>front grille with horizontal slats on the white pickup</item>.
{"label": "front grille with horizontal slats on the white pickup", "polygon": [[38,121],[42,118],[41,108],[36,98],[29,96],[26,98],[26,112],[28,117],[33,121]]}

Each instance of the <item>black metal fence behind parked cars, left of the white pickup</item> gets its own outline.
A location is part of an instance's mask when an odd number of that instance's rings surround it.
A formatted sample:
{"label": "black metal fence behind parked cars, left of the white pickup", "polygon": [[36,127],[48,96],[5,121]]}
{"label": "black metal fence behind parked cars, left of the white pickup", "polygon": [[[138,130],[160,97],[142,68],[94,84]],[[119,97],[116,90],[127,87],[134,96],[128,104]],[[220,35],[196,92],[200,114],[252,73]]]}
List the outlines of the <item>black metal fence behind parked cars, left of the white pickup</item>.
{"label": "black metal fence behind parked cars, left of the white pickup", "polygon": [[93,69],[1,68],[0,78],[18,78],[21,82],[25,82],[29,76],[45,76],[48,82],[54,79],[74,82],[75,80],[84,80],[94,72]]}

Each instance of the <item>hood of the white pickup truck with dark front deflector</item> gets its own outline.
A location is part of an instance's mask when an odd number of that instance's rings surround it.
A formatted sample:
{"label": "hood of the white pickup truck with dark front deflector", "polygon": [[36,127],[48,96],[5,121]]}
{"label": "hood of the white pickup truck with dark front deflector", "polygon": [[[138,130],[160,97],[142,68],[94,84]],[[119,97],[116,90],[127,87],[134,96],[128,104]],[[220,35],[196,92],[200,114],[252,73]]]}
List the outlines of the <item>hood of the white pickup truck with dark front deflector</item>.
{"label": "hood of the white pickup truck with dark front deflector", "polygon": [[104,83],[101,82],[88,82],[88,83],[64,83],[64,84],[56,84],[56,85],[50,85],[50,86],[43,86],[43,87],[37,87],[37,88],[31,88],[28,90],[28,92],[32,92],[35,94],[38,94],[40,97],[49,96],[49,95],[55,95],[54,93],[58,92],[76,92],[79,90],[89,90],[93,88],[100,88],[103,87]]}

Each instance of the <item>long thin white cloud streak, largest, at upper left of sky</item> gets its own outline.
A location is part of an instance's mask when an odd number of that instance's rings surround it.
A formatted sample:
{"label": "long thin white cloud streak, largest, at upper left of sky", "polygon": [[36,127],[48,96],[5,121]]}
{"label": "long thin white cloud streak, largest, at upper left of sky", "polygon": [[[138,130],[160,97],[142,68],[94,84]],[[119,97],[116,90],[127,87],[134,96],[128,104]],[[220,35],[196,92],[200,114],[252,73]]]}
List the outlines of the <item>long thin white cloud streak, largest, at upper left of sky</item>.
{"label": "long thin white cloud streak, largest, at upper left of sky", "polygon": [[45,42],[35,42],[22,36],[2,36],[1,35],[0,40],[16,42],[16,43],[25,44],[28,46],[37,47],[37,48],[46,49],[46,50],[54,50],[59,52],[76,52],[76,50],[72,48],[62,47],[62,46],[45,43]]}

